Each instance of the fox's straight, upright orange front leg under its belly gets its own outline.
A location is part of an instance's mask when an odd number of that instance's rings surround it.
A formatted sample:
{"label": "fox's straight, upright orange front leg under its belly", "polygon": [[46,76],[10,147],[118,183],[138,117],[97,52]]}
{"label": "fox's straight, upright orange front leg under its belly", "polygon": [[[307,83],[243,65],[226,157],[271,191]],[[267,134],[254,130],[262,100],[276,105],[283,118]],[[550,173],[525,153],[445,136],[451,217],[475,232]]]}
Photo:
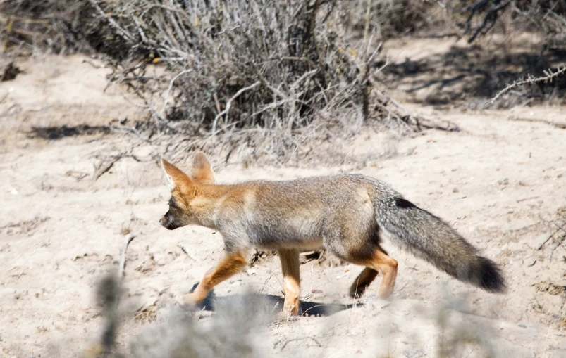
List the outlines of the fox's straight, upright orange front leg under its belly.
{"label": "fox's straight, upright orange front leg under its belly", "polygon": [[300,296],[300,262],[297,250],[278,250],[283,271],[283,290],[285,303],[283,304],[283,317],[297,316],[299,314]]}

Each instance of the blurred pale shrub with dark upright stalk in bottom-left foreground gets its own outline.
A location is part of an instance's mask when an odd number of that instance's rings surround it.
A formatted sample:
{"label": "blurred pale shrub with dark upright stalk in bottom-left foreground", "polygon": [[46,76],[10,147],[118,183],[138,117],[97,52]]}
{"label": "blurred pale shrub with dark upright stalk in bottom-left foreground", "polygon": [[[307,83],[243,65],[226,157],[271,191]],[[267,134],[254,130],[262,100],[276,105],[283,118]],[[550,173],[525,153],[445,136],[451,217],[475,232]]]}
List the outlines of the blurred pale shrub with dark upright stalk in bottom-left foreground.
{"label": "blurred pale shrub with dark upright stalk in bottom-left foreground", "polygon": [[257,357],[251,333],[266,323],[269,312],[258,310],[258,302],[247,297],[216,303],[214,319],[206,325],[198,323],[199,313],[192,309],[162,307],[151,324],[141,329],[135,324],[137,333],[128,344],[117,344],[121,324],[127,320],[118,305],[123,295],[119,281],[115,274],[99,281],[97,302],[103,323],[99,336],[80,357]]}

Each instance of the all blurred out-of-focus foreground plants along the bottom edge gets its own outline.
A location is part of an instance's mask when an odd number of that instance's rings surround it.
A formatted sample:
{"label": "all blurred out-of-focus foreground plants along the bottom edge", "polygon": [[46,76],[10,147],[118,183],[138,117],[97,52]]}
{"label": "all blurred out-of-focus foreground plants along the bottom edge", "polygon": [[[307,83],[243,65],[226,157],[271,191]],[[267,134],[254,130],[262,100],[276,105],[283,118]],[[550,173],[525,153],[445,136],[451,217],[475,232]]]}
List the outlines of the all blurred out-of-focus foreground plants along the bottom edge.
{"label": "all blurred out-of-focus foreground plants along the bottom edge", "polygon": [[[262,298],[261,295],[242,295],[229,300],[215,300],[212,314],[208,307],[207,312],[162,305],[156,308],[151,321],[140,324],[137,320],[129,319],[121,305],[118,305],[118,299],[125,289],[116,277],[114,274],[104,276],[97,285],[101,326],[94,340],[82,348],[79,357],[264,357],[262,348],[269,345],[264,341],[270,337],[268,329],[289,323],[274,319],[278,307],[271,307],[273,300]],[[362,305],[321,306],[329,308],[324,316],[349,309],[352,310],[351,314],[359,317],[360,312],[356,310],[364,309]],[[311,308],[317,307],[319,305],[312,305]],[[404,351],[404,356],[424,357],[426,350],[432,349],[436,357],[463,357],[469,354],[474,354],[474,357],[501,357],[503,350],[494,345],[491,321],[475,317],[463,301],[447,296],[437,307],[423,308],[417,308],[414,314],[427,325],[433,325],[438,335],[432,345],[420,341],[419,335],[412,337],[414,350]],[[386,312],[382,314],[385,317],[381,318],[379,324],[381,333],[376,335],[382,339],[394,339],[398,332],[386,329],[388,320],[394,319],[387,317]],[[304,349],[303,344],[297,345],[302,347],[299,351],[296,348],[286,349],[289,343],[310,340],[325,352],[329,346],[328,339],[319,332],[297,338],[273,338],[272,343],[273,350],[286,353],[280,357],[287,357]],[[67,347],[69,349],[73,351],[73,348]]]}

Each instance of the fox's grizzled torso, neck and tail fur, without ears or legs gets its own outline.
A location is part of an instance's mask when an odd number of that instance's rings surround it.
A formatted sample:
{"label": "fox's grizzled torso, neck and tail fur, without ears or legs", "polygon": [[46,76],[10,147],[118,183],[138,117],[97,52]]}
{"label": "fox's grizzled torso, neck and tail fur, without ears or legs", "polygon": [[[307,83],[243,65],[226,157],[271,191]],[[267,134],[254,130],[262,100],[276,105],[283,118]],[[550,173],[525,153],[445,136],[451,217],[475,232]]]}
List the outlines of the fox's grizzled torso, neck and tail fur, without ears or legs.
{"label": "fox's grizzled torso, neck and tail fur, without ears or legs", "polygon": [[183,214],[174,209],[162,219],[165,224],[196,223],[219,230],[228,252],[250,246],[313,250],[324,245],[344,260],[366,264],[376,250],[382,251],[385,232],[393,243],[456,279],[492,292],[505,289],[497,265],[478,256],[450,225],[371,177],[203,184]]}

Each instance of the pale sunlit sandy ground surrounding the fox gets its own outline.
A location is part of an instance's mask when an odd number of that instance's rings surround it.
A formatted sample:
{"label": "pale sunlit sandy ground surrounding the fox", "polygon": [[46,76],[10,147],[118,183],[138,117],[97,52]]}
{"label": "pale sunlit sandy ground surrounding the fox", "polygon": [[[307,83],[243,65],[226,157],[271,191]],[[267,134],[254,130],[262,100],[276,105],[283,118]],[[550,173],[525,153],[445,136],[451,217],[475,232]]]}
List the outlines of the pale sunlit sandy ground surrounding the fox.
{"label": "pale sunlit sandy ground surrounding the fox", "polygon": [[[223,250],[221,237],[209,229],[159,226],[168,188],[149,156],[155,148],[139,148],[137,157],[146,161],[125,158],[93,182],[97,154],[128,146],[123,136],[30,137],[32,127],[97,126],[136,114],[116,89],[103,93],[109,70],[83,60],[32,58],[20,64],[24,74],[0,84],[0,352],[5,357],[74,356],[97,334],[101,317],[94,285],[118,266],[130,231],[137,236],[128,248],[124,283],[125,302],[137,315],[126,324],[133,331],[151,326],[155,316],[159,321],[166,305],[187,293]],[[566,122],[566,114],[553,107],[518,112],[407,107],[455,122],[462,131],[429,130],[402,139],[360,134],[350,146],[352,153],[370,158],[362,164],[231,165],[217,170],[217,180],[360,172],[387,181],[498,262],[507,294],[466,286],[388,243],[399,261],[392,300],[377,298],[376,284],[362,300],[347,297],[360,267],[307,262],[302,300],[319,307],[311,313],[325,314],[324,307],[338,312],[259,326],[250,338],[259,355],[436,357],[443,343],[472,332],[475,338],[459,345],[454,357],[486,357],[490,350],[496,357],[566,357],[566,250],[552,250],[552,240],[537,250],[564,221],[566,131],[510,120]],[[372,157],[383,148],[396,154]],[[219,164],[215,158],[211,162]],[[280,276],[278,257],[266,257],[221,283],[215,295],[230,300],[251,291],[281,298]],[[211,319],[202,314],[198,324]]]}

